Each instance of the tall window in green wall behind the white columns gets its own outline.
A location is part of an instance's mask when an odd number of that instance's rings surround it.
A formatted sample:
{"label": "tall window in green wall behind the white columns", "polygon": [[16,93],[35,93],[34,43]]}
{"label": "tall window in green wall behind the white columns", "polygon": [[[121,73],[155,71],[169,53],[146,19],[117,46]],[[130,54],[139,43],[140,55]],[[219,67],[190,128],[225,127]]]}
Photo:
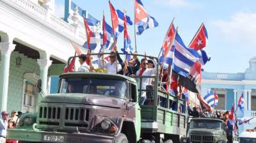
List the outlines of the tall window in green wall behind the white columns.
{"label": "tall window in green wall behind the white columns", "polygon": [[24,81],[24,95],[22,112],[35,112],[36,109],[36,94],[34,92],[34,86],[29,81]]}

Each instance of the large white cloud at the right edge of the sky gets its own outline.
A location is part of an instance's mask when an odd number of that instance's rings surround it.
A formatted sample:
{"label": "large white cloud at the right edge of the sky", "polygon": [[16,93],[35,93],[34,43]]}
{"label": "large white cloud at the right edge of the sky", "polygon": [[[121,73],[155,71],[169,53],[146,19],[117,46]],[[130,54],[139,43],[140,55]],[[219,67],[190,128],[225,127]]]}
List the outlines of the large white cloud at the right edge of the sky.
{"label": "large white cloud at the right edge of the sky", "polygon": [[220,32],[219,35],[241,45],[256,44],[256,13],[239,12],[230,20],[216,20],[211,24]]}

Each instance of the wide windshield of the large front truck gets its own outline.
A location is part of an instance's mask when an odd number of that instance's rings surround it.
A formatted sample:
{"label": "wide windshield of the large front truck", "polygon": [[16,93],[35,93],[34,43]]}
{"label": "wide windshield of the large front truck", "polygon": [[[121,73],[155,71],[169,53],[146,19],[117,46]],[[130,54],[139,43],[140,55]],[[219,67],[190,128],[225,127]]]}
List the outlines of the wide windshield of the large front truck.
{"label": "wide windshield of the large front truck", "polygon": [[87,93],[125,98],[126,84],[122,80],[104,78],[62,78],[58,93]]}

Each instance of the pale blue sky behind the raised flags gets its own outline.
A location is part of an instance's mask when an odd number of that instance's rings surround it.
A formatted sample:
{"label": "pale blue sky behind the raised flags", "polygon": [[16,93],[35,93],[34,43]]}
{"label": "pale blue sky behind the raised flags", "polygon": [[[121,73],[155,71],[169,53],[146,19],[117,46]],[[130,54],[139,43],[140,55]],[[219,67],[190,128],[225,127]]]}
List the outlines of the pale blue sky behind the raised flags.
{"label": "pale blue sky behind the raised flags", "polygon": [[[110,10],[107,0],[74,0],[96,19],[110,22]],[[158,56],[166,31],[175,17],[174,24],[188,45],[202,22],[208,32],[208,44],[205,50],[211,60],[204,69],[207,72],[245,72],[249,59],[256,56],[256,1],[254,0],[142,0],[145,9],[154,17],[159,26],[147,29],[137,36],[137,50]],[[55,14],[64,15],[64,0],[56,0]],[[116,9],[127,10],[134,20],[133,0],[111,0]],[[134,27],[128,29],[134,47]],[[123,34],[119,36],[118,48],[123,48]]]}

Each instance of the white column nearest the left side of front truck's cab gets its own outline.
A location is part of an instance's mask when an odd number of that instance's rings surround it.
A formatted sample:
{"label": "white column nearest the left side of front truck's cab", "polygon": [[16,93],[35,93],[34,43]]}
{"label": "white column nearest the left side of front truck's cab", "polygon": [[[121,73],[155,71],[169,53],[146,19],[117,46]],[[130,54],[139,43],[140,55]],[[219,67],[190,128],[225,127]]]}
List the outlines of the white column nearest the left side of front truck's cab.
{"label": "white column nearest the left side of front truck's cab", "polygon": [[[40,79],[42,80],[42,94],[47,94],[47,80],[48,80],[48,69],[52,64],[52,60],[49,58],[37,59],[37,63],[40,67]],[[38,96],[37,103],[41,101],[41,96]]]}

